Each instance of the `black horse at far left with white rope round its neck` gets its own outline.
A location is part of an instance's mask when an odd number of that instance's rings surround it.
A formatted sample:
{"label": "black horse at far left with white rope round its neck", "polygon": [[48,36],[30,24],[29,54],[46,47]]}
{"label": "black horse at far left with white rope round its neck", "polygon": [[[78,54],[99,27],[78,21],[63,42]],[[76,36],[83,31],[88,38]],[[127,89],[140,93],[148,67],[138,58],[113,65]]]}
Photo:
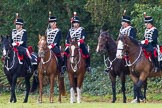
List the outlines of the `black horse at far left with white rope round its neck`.
{"label": "black horse at far left with white rope round its neck", "polygon": [[[18,77],[25,78],[26,85],[26,93],[24,103],[28,102],[28,96],[30,91],[30,78],[33,75],[34,71],[37,70],[37,64],[32,66],[32,72],[27,72],[27,64],[26,61],[23,61],[23,64],[19,64],[17,52],[14,51],[14,47],[11,44],[11,39],[9,36],[3,37],[1,36],[1,46],[2,46],[2,54],[4,58],[4,73],[7,77],[7,80],[11,87],[11,97],[10,102],[17,102],[15,87]],[[37,57],[36,57],[37,58]]]}

